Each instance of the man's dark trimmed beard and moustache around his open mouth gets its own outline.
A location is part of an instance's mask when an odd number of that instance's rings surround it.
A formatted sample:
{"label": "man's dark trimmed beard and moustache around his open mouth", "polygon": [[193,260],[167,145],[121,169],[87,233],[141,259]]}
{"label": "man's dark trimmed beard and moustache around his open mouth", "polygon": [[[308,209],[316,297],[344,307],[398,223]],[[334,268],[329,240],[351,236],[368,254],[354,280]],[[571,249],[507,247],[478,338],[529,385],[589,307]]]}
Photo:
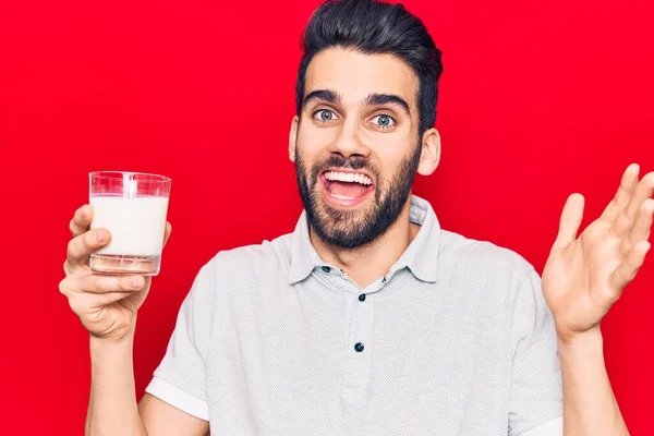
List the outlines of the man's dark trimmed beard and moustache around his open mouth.
{"label": "man's dark trimmed beard and moustache around his open mouth", "polygon": [[[401,161],[396,174],[386,182],[363,157],[348,159],[331,155],[310,170],[298,153],[299,148],[295,148],[295,179],[308,225],[324,242],[343,249],[373,242],[397,221],[411,194],[422,152],[419,143]],[[339,210],[326,204],[320,194],[319,175],[327,168],[366,169],[376,180],[373,203],[358,210]]]}

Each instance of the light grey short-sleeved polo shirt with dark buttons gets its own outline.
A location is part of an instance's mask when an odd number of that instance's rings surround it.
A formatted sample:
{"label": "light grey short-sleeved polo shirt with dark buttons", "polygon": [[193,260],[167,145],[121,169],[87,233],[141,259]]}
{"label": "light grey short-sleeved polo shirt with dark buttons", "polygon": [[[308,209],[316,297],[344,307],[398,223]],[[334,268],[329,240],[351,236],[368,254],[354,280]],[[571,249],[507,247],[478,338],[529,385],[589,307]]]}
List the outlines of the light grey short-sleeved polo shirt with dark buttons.
{"label": "light grey short-sleeved polo shirt with dark buttons", "polygon": [[293,233],[197,275],[147,392],[211,435],[562,434],[554,320],[534,268],[440,229],[360,289]]}

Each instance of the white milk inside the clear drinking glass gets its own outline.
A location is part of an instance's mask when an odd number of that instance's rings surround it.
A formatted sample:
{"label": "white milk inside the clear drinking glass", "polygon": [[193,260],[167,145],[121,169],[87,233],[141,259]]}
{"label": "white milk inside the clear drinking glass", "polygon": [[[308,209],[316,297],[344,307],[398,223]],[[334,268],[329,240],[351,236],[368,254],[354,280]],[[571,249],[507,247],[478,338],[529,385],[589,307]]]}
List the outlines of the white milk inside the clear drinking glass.
{"label": "white milk inside the clear drinking glass", "polygon": [[108,229],[111,241],[96,254],[158,257],[164,245],[168,197],[92,195],[92,229]]}

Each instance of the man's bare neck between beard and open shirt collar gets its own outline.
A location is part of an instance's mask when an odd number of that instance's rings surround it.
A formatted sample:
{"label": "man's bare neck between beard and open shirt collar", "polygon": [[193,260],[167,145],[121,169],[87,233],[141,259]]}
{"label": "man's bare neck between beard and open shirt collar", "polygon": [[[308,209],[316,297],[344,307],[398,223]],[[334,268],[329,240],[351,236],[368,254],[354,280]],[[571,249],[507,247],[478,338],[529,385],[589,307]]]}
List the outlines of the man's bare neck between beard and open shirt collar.
{"label": "man's bare neck between beard and open shirt collar", "polygon": [[346,271],[363,289],[384,277],[401,257],[417,234],[420,226],[409,221],[411,201],[407,201],[398,219],[374,241],[354,249],[343,249],[326,243],[311,228],[311,241],[323,261]]}

